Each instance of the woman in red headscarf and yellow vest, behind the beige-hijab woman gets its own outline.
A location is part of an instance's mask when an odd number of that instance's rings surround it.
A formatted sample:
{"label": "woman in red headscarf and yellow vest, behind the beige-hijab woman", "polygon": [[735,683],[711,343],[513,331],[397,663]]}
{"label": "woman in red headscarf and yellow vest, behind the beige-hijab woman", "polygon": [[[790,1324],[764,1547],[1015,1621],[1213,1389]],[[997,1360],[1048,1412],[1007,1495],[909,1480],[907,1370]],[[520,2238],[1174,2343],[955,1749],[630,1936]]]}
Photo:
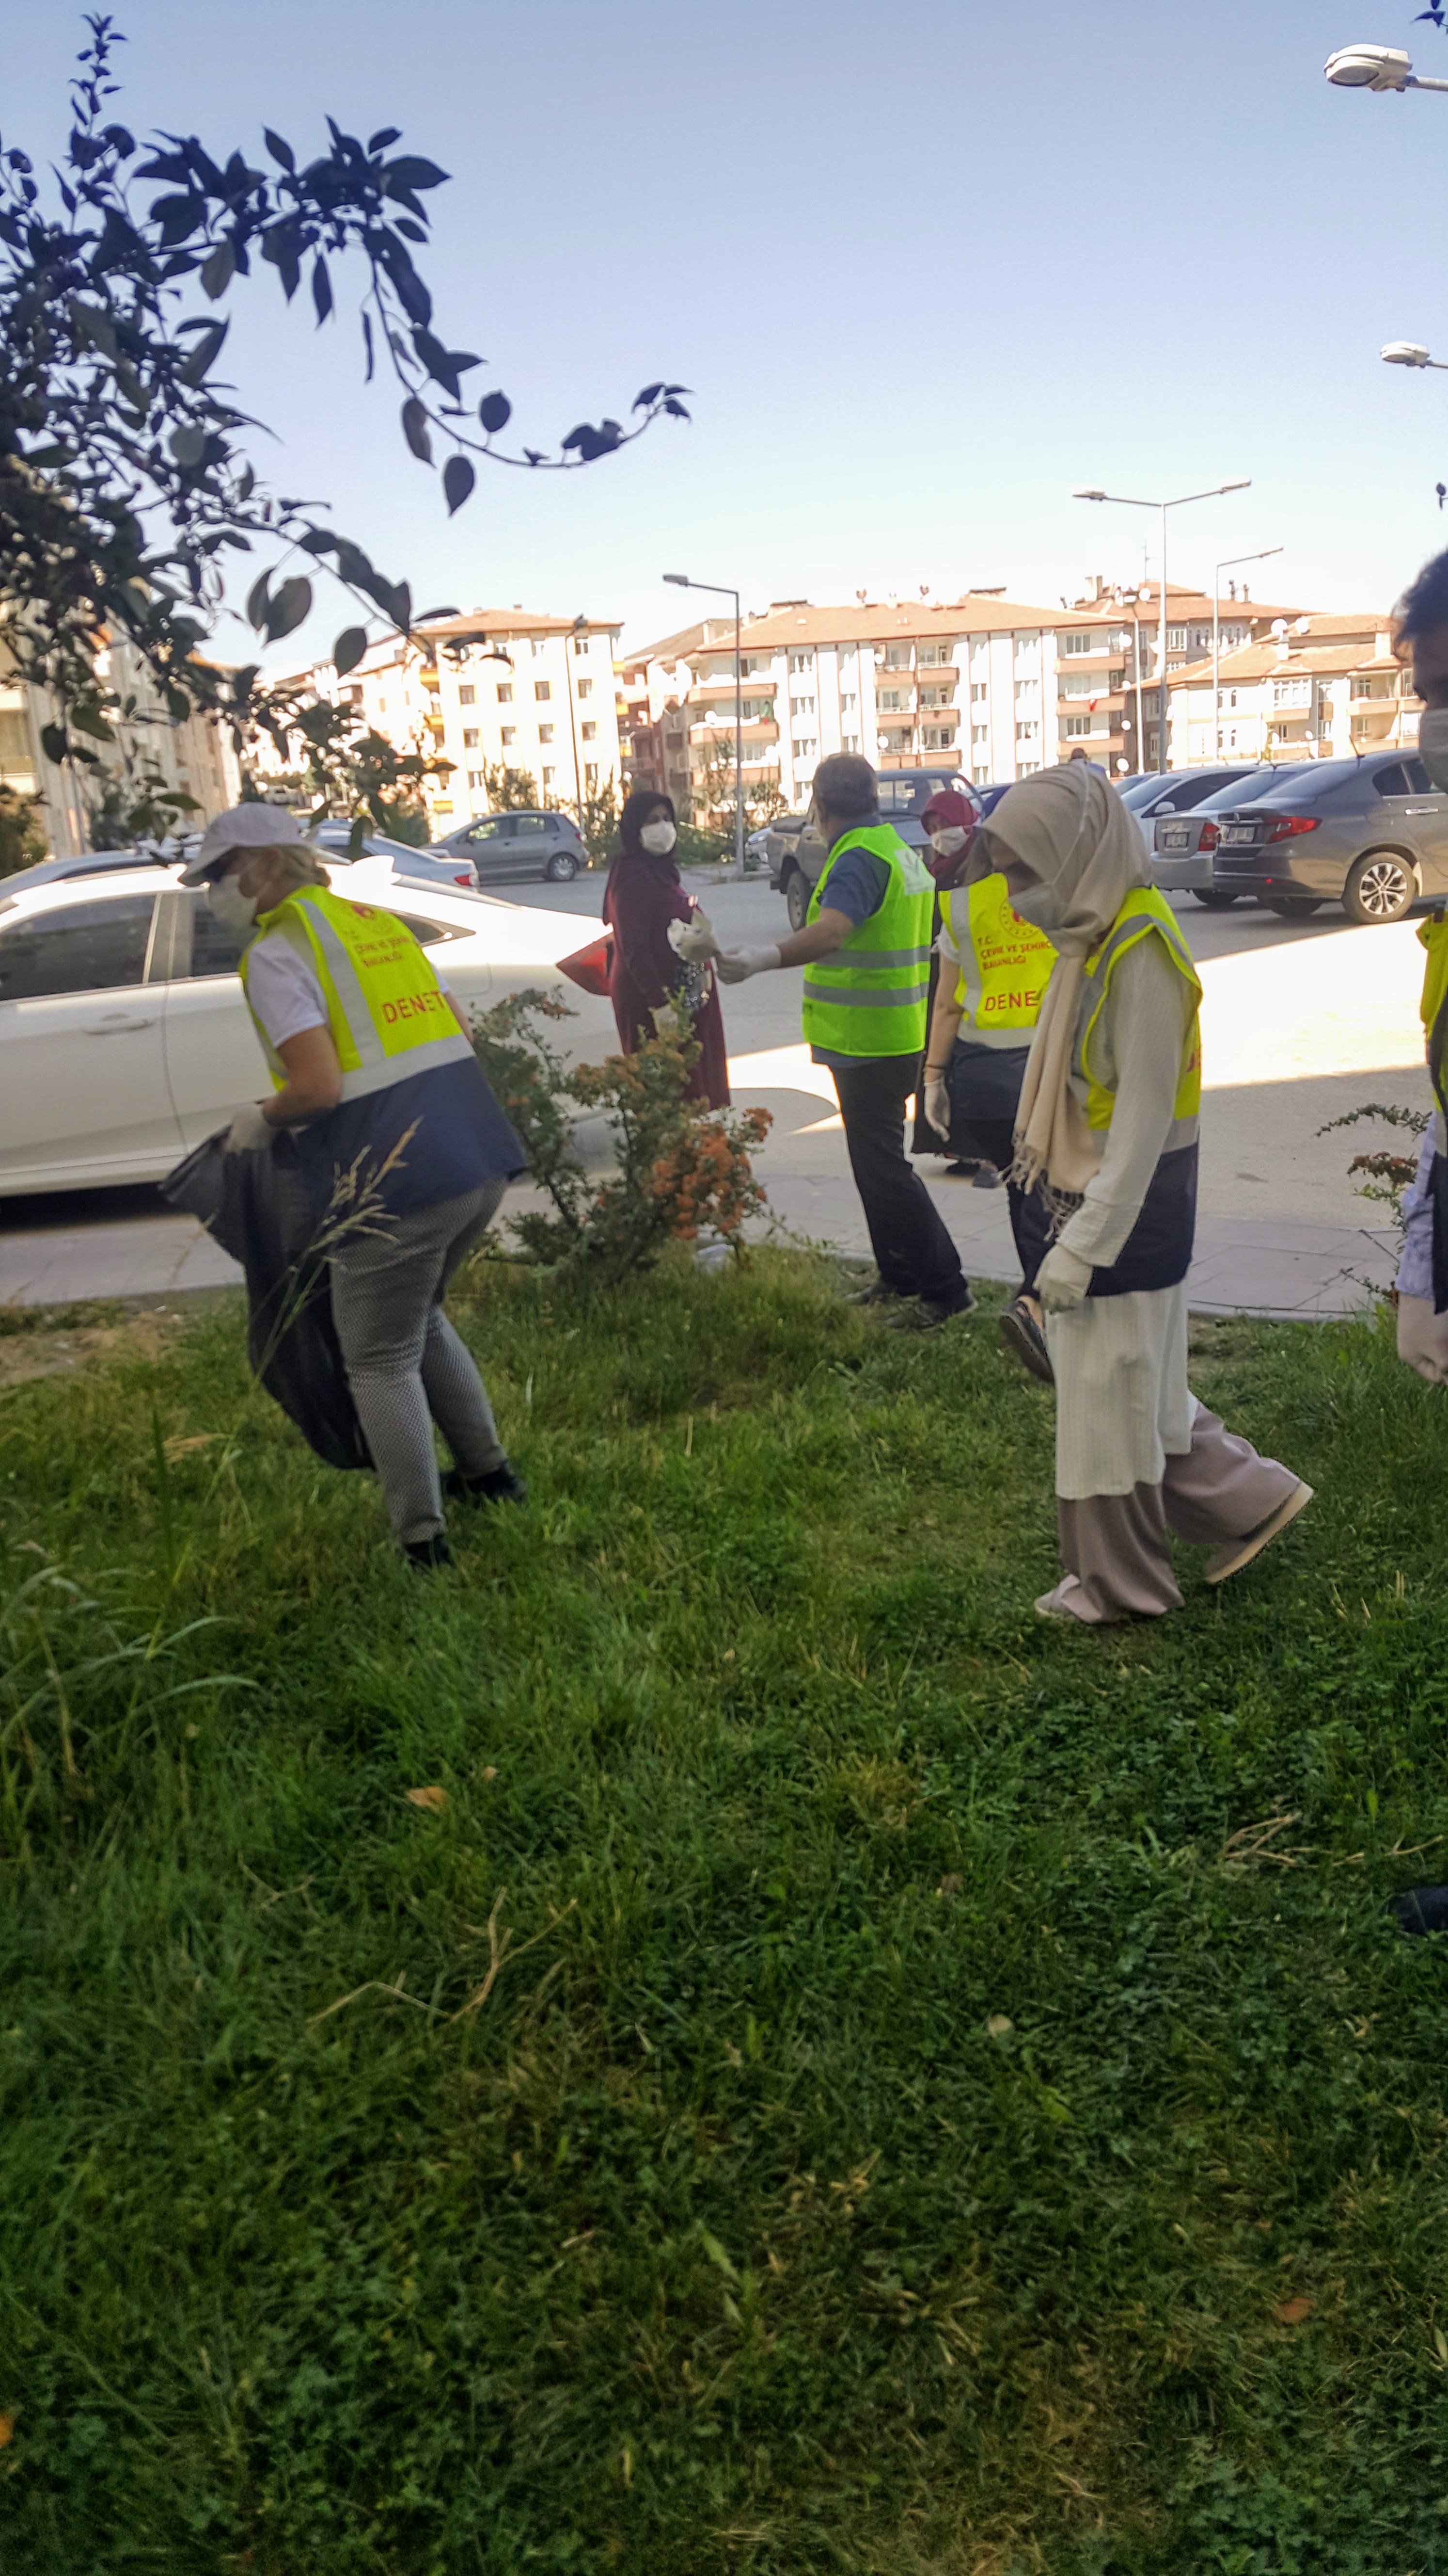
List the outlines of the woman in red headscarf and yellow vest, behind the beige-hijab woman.
{"label": "woman in red headscarf and yellow vest, behind the beige-hijab woman", "polygon": [[1015,1157],[1015,1103],[1056,951],[1043,930],[1020,920],[1005,876],[984,876],[976,886],[964,884],[979,824],[974,799],[956,788],[938,788],[922,822],[930,835],[925,866],[940,894],[938,981],[920,1077],[922,1115],[940,1139],[938,1149],[1005,1175],[1010,1231],[1023,1278],[1000,1329],[1018,1360],[1049,1383],[1051,1360],[1036,1298],[1036,1273],[1046,1257],[1051,1229],[1036,1193],[1018,1190],[1010,1180],[1010,1164]]}

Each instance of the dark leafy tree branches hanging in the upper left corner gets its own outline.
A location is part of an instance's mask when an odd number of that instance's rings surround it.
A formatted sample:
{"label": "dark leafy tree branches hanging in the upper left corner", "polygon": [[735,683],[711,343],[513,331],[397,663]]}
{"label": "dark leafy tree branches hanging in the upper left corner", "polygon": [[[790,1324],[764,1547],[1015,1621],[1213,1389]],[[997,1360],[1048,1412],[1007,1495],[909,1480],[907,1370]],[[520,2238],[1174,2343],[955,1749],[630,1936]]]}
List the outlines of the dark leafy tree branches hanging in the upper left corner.
{"label": "dark leafy tree branches hanging in the upper left corner", "polygon": [[[412,592],[325,526],[314,502],[258,479],[245,446],[260,422],[216,376],[229,332],[216,307],[258,265],[276,270],[286,301],[307,276],[319,330],[338,314],[335,278],[361,265],[363,376],[392,374],[402,438],[423,466],[446,451],[448,515],[474,489],[474,459],[577,471],[660,417],[685,420],[688,386],[647,384],[629,428],[580,422],[557,453],[497,446],[513,404],[502,392],[477,410],[464,402],[461,381],[482,361],[438,335],[412,258],[446,173],[397,152],[397,126],[363,144],[332,118],[327,149],[301,165],[271,129],[271,167],[240,149],[216,157],[193,134],[142,147],[113,116],[124,39],[108,15],[85,26],[72,131],[52,173],[59,206],[41,204],[31,155],[0,139],[0,649],[52,701],[52,760],[106,762],[119,706],[95,657],[124,636],[173,721],[206,714],[237,750],[265,734],[283,757],[301,732],[312,768],[340,783],[358,729],[350,706],[268,683],[258,662],[227,672],[198,657],[224,574],[232,556],[268,556],[247,592],[268,644],[312,613],[319,577],[348,592],[361,616],[338,636],[338,672],[361,662],[376,621],[412,631]],[[204,309],[188,309],[196,296]]]}

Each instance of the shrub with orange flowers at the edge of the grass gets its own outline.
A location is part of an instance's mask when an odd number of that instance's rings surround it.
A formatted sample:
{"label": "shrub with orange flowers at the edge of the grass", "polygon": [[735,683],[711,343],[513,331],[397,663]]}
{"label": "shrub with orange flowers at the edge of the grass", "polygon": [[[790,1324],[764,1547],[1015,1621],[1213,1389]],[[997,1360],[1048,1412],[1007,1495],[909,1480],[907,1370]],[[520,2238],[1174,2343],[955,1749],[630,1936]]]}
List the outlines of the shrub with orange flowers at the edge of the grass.
{"label": "shrub with orange flowers at the edge of the grass", "polygon": [[[688,1100],[698,1046],[685,1033],[569,1069],[546,1041],[546,1023],[569,1018],[567,1002],[518,992],[474,1020],[477,1059],[551,1200],[551,1211],[510,1218],[523,1255],[600,1280],[624,1278],[667,1242],[711,1236],[742,1257],[745,1224],[765,1206],[750,1146],[765,1141],[770,1113]],[[577,1159],[577,1110],[608,1118],[616,1170],[605,1180]]]}

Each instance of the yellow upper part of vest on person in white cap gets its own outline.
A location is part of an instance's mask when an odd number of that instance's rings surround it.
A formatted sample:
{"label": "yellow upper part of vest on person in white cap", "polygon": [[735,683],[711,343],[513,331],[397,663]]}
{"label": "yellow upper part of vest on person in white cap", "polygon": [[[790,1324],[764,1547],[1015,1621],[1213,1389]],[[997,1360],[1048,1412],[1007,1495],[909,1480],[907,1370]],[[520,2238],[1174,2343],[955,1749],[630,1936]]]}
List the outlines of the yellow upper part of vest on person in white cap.
{"label": "yellow upper part of vest on person in white cap", "polygon": [[[343,1100],[363,1100],[368,1092],[407,1082],[410,1074],[472,1056],[472,1043],[453,1020],[428,956],[394,912],[345,902],[327,886],[299,886],[260,917],[258,930],[263,935],[278,930],[314,971],[327,1005],[327,1033],[343,1066]],[[242,992],[247,958],[250,948],[242,953]],[[281,1090],[286,1066],[255,1010],[252,1028],[271,1079]]]}

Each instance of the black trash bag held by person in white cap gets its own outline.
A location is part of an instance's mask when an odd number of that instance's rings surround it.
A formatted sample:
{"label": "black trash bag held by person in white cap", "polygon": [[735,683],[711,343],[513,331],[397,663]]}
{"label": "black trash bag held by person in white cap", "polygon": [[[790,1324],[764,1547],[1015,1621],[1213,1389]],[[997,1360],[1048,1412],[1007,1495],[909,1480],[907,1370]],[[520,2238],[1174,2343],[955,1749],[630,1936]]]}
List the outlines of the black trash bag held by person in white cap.
{"label": "black trash bag held by person in white cap", "polygon": [[338,1327],[327,1260],[312,1252],[291,1136],[265,1151],[224,1154],[224,1128],[198,1144],[160,1185],[173,1208],[198,1216],[247,1275],[247,1360],[273,1404],[327,1466],[371,1468]]}

